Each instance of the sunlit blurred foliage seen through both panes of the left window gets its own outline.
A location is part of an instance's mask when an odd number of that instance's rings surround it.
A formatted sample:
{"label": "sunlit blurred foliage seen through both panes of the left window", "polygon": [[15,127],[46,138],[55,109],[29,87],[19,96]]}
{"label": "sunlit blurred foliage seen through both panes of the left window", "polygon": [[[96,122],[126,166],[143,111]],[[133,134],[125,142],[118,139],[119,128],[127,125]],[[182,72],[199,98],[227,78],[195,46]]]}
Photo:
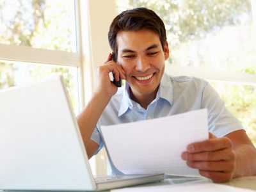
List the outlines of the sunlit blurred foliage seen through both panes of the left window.
{"label": "sunlit blurred foliage seen through both panes of the left window", "polygon": [[[71,22],[72,1],[14,0],[0,1],[0,44],[75,52]],[[73,2],[74,4],[74,2]],[[74,8],[74,7],[73,7]],[[72,31],[73,30],[73,31]],[[29,74],[24,73],[26,68]],[[0,60],[0,89],[19,85],[17,76],[36,81],[51,74],[62,74],[75,106],[77,68],[37,65]]]}

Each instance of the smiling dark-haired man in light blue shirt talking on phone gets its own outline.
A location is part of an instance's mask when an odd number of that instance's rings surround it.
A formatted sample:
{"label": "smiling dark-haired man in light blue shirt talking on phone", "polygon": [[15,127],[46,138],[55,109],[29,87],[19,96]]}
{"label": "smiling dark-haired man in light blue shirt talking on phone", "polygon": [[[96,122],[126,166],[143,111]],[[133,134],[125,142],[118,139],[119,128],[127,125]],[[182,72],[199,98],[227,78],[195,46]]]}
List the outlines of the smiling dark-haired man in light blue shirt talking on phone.
{"label": "smiling dark-haired man in light blue shirt talking on phone", "polygon": [[[214,182],[256,174],[255,148],[211,86],[202,79],[164,73],[169,47],[163,21],[156,13],[147,8],[120,13],[109,28],[108,38],[116,61],[109,54],[106,63],[97,68],[95,93],[77,117],[89,157],[103,147],[100,125],[207,108],[212,132],[209,140],[191,143],[180,158]],[[117,81],[125,79],[125,86],[118,89],[109,80],[109,72]],[[111,166],[112,173],[118,173]]]}

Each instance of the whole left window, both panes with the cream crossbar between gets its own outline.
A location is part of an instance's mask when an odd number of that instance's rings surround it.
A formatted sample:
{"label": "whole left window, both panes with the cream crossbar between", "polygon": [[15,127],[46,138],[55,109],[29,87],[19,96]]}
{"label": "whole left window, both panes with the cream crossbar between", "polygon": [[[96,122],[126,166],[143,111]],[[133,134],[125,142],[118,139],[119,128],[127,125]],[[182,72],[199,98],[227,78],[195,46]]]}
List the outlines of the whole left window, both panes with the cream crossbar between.
{"label": "whole left window, both panes with the cream crossbar between", "polygon": [[76,2],[0,1],[0,88],[62,74],[79,112]]}

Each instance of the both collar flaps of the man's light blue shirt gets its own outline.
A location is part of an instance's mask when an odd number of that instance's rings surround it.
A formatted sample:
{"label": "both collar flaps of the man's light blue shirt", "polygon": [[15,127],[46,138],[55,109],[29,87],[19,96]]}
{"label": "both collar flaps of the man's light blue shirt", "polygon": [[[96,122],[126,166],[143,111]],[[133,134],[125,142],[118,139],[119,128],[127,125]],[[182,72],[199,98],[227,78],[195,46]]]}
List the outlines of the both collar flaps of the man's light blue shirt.
{"label": "both collar flaps of the man's light blue shirt", "polygon": [[[130,90],[130,86],[127,82],[125,82],[125,85],[123,87],[122,102],[120,105],[120,109],[118,111],[118,116],[123,115],[129,108],[132,109],[134,107],[134,105],[132,104],[132,100],[130,99],[129,90]],[[170,103],[170,105],[173,104],[172,81],[170,79],[170,76],[168,76],[165,72],[161,79],[159,90],[157,92],[156,99],[154,99],[154,101],[158,100],[159,98],[163,98],[167,100]]]}

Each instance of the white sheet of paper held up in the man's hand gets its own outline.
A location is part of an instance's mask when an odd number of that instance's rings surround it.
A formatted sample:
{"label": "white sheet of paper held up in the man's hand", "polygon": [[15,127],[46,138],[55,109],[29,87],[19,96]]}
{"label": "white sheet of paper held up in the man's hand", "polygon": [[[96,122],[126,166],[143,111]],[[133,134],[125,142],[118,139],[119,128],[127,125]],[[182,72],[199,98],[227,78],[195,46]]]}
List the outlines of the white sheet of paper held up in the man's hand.
{"label": "white sheet of paper held up in the man's hand", "polygon": [[189,143],[207,140],[207,109],[100,129],[111,161],[125,174],[199,176],[180,156]]}

